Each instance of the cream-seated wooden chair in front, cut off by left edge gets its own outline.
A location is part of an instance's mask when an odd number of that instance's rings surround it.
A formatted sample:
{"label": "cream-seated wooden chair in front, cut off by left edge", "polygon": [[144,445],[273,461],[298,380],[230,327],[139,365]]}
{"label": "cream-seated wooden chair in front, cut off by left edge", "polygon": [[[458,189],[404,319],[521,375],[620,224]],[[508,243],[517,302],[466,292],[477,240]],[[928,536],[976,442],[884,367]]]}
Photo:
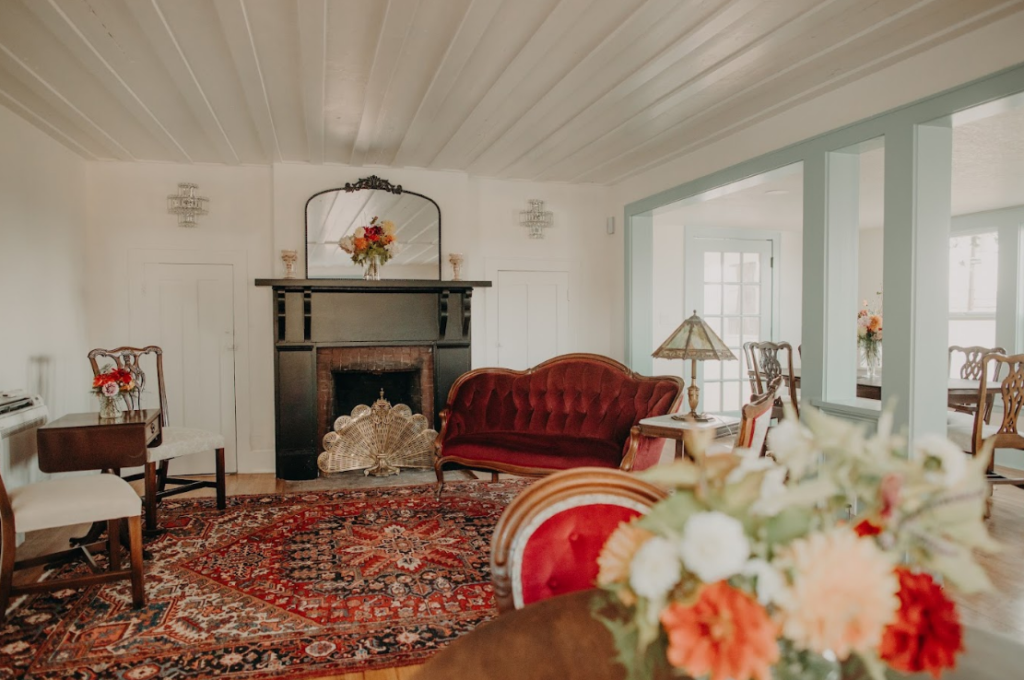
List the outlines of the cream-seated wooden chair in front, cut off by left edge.
{"label": "cream-seated wooden chair in front, cut off by left edge", "polygon": [[[131,579],[132,604],[145,604],[142,589],[142,512],[138,494],[124,479],[113,474],[65,477],[18,486],[9,494],[0,477],[0,623],[6,619],[13,595],[40,593],[62,588],[85,588],[100,583]],[[121,568],[121,519],[128,518],[131,568]],[[16,534],[71,526],[82,522],[106,522],[110,569],[101,570],[90,550],[103,542],[72,550],[15,560]],[[92,573],[39,583],[13,585],[14,572],[33,566],[52,565],[83,555]]]}

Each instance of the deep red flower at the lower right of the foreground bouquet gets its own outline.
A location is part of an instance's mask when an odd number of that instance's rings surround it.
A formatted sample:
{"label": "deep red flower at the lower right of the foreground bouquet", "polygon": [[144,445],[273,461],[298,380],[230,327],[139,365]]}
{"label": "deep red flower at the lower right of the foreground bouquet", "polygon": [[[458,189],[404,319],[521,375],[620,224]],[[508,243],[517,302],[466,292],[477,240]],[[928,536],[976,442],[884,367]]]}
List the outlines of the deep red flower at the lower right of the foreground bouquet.
{"label": "deep red flower at the lower right of the foreground bouquet", "polygon": [[938,678],[956,666],[964,650],[964,628],[954,605],[928,573],[896,567],[899,611],[882,637],[879,655],[896,671],[928,671]]}

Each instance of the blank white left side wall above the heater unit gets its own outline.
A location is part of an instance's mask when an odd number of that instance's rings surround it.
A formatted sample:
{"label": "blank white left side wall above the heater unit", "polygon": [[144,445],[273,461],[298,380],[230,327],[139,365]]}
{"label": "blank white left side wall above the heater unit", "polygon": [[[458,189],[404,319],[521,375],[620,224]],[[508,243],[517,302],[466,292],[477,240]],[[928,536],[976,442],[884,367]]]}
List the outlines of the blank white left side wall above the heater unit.
{"label": "blank white left side wall above the heater unit", "polygon": [[0,107],[0,389],[93,411],[85,162]]}

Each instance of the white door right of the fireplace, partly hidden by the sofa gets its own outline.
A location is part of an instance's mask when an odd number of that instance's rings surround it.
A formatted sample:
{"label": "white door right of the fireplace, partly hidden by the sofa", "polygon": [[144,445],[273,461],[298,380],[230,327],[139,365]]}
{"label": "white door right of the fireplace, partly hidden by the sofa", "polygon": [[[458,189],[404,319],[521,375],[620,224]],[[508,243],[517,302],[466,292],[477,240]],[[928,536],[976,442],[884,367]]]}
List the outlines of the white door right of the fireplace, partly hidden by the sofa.
{"label": "white door right of the fireplace, partly hidden by the sofa", "polygon": [[498,272],[498,366],[528,369],[569,351],[568,271]]}

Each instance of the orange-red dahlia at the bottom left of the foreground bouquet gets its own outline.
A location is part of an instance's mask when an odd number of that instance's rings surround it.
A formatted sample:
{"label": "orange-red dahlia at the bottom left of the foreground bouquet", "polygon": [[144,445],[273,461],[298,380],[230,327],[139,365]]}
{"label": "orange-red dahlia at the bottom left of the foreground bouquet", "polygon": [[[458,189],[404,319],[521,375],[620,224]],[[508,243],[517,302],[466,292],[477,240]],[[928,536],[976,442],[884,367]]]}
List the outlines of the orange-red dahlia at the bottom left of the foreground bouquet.
{"label": "orange-red dahlia at the bottom left of the foreground bouquet", "polygon": [[776,627],[748,593],[719,581],[700,589],[696,602],[675,602],[662,612],[669,663],[711,680],[770,680],[778,661]]}

